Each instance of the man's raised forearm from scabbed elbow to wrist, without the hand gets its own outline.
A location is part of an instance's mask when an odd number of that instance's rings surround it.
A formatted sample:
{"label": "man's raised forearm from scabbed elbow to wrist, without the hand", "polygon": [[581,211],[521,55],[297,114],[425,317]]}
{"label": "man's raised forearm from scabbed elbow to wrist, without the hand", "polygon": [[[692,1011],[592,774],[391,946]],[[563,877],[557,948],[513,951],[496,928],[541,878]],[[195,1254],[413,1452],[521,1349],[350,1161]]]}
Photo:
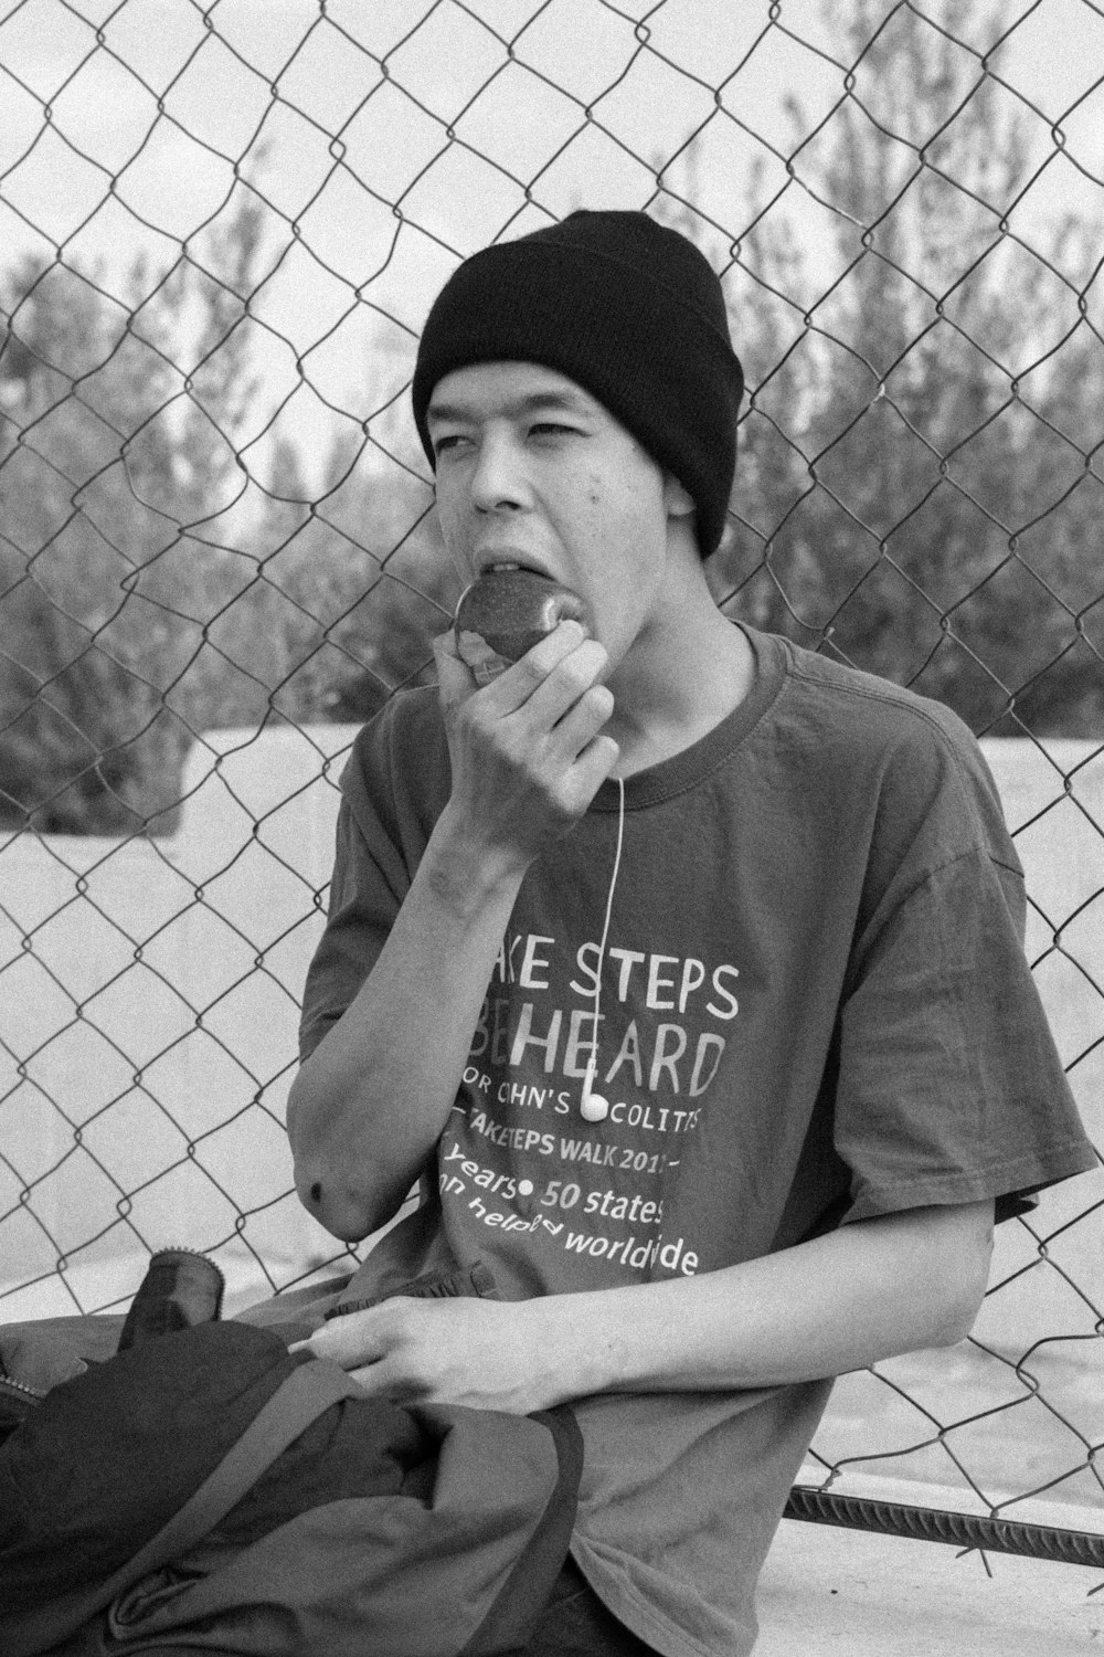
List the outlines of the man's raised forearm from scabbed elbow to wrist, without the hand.
{"label": "man's raised forearm from scabbed elbow to wrist, without the hand", "polygon": [[440,1138],[520,883],[442,819],[372,973],[303,1064],[295,1183],[334,1236],[391,1220]]}

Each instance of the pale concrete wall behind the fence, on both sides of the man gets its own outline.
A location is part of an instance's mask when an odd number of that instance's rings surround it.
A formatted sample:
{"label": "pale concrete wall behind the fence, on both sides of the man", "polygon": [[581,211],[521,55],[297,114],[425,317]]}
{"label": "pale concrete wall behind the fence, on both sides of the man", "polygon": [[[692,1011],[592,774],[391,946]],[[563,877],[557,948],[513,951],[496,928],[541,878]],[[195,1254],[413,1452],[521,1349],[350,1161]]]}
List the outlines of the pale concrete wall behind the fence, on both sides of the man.
{"label": "pale concrete wall behind the fence, on both sides of the man", "polygon": [[[0,1317],[126,1301],[144,1251],[170,1243],[214,1249],[238,1301],[341,1258],[290,1193],[281,1123],[353,734],[209,734],[170,840],[0,842],[0,1284],[23,1286]],[[986,752],[1028,872],[1039,989],[1101,1143],[1104,759],[1084,742]],[[1046,1195],[1031,1223],[1056,1233],[1044,1256],[1025,1226],[1001,1228],[1005,1287],[978,1324],[996,1355],[962,1345],[884,1365],[892,1385],[839,1384],[818,1452],[842,1488],[886,1468],[945,1485],[965,1460],[998,1491],[1015,1475],[1099,1501],[1086,1447],[1104,1438],[1102,1200],[1099,1171]],[[996,1403],[1013,1407],[986,1413]]]}

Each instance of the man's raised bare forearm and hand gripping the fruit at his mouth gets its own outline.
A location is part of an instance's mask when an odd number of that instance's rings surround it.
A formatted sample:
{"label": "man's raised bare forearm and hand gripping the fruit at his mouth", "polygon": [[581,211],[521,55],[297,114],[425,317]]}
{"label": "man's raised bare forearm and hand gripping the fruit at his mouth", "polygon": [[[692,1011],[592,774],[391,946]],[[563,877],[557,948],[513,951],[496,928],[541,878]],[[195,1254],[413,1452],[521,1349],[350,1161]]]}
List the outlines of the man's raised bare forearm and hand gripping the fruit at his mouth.
{"label": "man's raised bare forearm and hand gripping the fruit at his mouth", "polygon": [[564,621],[477,691],[434,643],[452,792],[376,966],[288,1100],[295,1183],[334,1236],[396,1213],[440,1138],[525,870],[609,774],[599,643]]}

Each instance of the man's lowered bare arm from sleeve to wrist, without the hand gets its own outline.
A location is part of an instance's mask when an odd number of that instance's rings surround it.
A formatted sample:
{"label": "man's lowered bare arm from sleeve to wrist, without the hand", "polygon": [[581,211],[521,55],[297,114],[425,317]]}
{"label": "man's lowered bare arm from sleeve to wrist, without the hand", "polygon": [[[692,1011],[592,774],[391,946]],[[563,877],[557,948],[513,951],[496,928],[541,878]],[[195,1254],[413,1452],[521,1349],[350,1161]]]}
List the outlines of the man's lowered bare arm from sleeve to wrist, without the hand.
{"label": "man's lowered bare arm from sleeve to wrist, without the hand", "polygon": [[907,1210],[760,1259],[521,1307],[573,1395],[732,1390],[866,1369],[967,1336],[993,1205]]}

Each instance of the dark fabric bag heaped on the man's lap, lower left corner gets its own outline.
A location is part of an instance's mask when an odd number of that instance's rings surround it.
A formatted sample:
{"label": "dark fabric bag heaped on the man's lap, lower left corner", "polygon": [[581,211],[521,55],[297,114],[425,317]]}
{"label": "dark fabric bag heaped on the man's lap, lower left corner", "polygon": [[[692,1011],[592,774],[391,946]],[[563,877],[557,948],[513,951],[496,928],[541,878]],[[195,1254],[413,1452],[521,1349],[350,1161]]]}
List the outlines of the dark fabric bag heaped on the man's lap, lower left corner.
{"label": "dark fabric bag heaped on the man's lap, lower left corner", "polygon": [[122,1331],[0,1326],[5,1657],[528,1644],[574,1523],[568,1408],[369,1399],[276,1329],[170,1299],[139,1291]]}

